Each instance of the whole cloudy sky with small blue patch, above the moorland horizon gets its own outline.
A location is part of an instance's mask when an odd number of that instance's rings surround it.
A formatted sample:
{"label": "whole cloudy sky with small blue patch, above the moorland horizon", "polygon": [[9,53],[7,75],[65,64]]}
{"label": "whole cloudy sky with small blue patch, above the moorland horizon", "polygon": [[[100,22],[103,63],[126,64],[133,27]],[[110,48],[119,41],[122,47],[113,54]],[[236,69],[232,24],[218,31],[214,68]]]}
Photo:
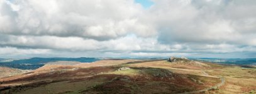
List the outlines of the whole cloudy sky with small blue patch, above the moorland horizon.
{"label": "whole cloudy sky with small blue patch, above the moorland horizon", "polygon": [[256,58],[255,0],[0,0],[0,58]]}

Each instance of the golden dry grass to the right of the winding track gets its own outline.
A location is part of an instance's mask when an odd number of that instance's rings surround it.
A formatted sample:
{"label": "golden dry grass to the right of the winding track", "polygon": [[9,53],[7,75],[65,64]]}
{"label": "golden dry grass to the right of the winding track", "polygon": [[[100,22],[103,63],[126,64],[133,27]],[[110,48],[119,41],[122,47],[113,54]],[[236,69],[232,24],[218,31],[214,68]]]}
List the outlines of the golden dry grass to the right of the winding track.
{"label": "golden dry grass to the right of the winding track", "polygon": [[241,68],[239,66],[227,66],[214,70],[208,70],[209,75],[224,76],[225,85],[221,86],[218,93],[245,93],[256,90],[256,75],[252,73],[255,68]]}

